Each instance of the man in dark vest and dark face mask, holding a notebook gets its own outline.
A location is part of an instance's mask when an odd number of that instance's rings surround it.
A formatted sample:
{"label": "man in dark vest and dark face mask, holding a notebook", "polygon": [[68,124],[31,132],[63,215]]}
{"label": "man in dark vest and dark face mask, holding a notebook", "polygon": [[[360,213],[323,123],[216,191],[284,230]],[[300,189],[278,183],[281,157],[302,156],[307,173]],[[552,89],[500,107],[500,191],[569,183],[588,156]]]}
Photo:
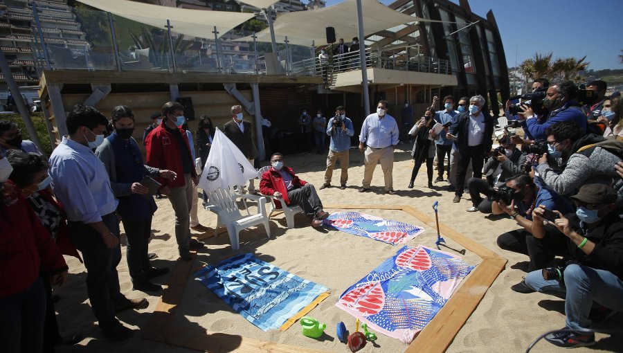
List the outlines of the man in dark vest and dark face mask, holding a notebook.
{"label": "man in dark vest and dark face mask, holding a notebook", "polygon": [[132,288],[139,291],[159,291],[161,287],[150,282],[151,278],[165,275],[169,269],[150,265],[147,244],[152,234],[152,216],[156,202],[145,194],[149,191],[141,184],[144,177],[174,179],[170,170],[147,166],[143,154],[132,133],[134,114],[125,105],[114,107],[111,113],[114,132],[108,136],[95,154],[108,172],[111,188],[119,200],[117,212],[121,216],[127,236],[127,267],[132,278]]}

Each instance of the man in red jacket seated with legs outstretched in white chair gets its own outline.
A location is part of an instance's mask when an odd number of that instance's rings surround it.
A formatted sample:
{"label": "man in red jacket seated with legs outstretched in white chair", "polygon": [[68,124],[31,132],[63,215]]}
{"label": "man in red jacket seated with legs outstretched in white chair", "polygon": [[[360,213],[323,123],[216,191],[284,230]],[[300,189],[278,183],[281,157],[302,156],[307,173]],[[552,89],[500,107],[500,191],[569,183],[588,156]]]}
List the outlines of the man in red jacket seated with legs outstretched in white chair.
{"label": "man in red jacket seated with legs outstretched in white chair", "polygon": [[[260,192],[280,199],[287,206],[299,205],[309,218],[312,227],[321,226],[323,219],[329,217],[329,213],[323,211],[323,203],[314,185],[300,180],[292,168],[284,168],[283,155],[280,153],[271,156],[271,166],[272,168],[262,174]],[[281,206],[280,201],[275,201],[276,206]]]}

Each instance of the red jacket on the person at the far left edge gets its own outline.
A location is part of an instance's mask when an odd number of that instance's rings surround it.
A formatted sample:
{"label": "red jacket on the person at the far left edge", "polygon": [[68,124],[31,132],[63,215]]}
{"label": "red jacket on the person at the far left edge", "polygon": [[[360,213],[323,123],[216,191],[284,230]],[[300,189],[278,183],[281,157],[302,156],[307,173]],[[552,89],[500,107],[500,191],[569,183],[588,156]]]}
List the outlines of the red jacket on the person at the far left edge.
{"label": "red jacket on the person at the far left edge", "polygon": [[4,187],[15,190],[0,207],[0,298],[33,285],[42,262],[51,275],[67,270],[58,246],[15,184],[6,181]]}

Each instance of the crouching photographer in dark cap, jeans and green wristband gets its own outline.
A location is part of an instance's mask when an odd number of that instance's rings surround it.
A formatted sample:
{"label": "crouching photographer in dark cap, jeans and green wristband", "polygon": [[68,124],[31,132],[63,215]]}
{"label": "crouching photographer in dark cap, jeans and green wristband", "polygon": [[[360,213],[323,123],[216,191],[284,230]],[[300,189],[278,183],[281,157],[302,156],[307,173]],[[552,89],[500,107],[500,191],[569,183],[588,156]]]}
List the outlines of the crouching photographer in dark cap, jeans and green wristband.
{"label": "crouching photographer in dark cap, jeans and green wristband", "polygon": [[[567,265],[526,275],[530,289],[565,298],[566,327],[545,336],[554,345],[570,348],[595,343],[595,334],[587,331],[593,302],[601,306],[600,311],[623,311],[623,222],[613,212],[616,198],[607,185],[583,185],[571,197],[577,206],[575,214],[557,212],[559,218],[550,221],[565,236],[568,250],[563,262]],[[543,215],[543,208],[534,210],[534,224],[541,223]]]}

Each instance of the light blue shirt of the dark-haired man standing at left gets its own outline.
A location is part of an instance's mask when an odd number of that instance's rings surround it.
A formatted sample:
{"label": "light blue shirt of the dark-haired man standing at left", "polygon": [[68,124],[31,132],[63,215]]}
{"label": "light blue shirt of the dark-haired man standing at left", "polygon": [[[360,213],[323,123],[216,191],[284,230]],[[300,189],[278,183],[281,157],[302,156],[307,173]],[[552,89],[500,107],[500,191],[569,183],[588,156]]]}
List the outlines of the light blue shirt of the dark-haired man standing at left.
{"label": "light blue shirt of the dark-haired man standing at left", "polygon": [[116,210],[108,173],[91,147],[63,137],[50,156],[49,174],[69,221],[95,223]]}

